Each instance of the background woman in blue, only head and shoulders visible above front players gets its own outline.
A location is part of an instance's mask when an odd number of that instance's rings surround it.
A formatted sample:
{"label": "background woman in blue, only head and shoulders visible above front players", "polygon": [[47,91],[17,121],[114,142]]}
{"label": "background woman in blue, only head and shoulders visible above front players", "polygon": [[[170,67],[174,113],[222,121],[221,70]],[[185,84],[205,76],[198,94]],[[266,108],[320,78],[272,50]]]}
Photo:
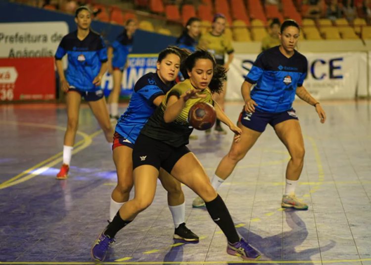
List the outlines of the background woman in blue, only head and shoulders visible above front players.
{"label": "background woman in blue, only head and shoulders visible above front players", "polygon": [[176,41],[176,45],[190,52],[195,51],[198,44],[198,37],[200,36],[200,26],[201,20],[198,17],[189,18],[182,35]]}

